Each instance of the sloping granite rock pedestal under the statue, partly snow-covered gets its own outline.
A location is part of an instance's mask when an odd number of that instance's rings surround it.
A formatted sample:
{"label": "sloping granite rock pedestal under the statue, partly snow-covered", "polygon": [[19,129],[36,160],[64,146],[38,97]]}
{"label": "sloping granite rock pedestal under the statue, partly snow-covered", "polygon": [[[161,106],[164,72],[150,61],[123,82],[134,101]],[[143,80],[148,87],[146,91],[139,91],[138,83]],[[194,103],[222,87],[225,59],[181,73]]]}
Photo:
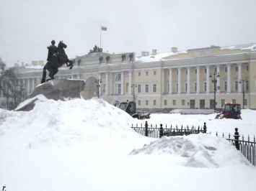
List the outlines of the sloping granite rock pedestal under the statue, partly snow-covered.
{"label": "sloping granite rock pedestal under the statue, partly snow-covered", "polygon": [[19,104],[16,111],[30,111],[38,100],[38,95],[44,95],[45,98],[55,101],[65,101],[69,98],[81,98],[81,91],[84,90],[84,80],[61,80],[54,79],[46,83],[37,85],[27,99]]}

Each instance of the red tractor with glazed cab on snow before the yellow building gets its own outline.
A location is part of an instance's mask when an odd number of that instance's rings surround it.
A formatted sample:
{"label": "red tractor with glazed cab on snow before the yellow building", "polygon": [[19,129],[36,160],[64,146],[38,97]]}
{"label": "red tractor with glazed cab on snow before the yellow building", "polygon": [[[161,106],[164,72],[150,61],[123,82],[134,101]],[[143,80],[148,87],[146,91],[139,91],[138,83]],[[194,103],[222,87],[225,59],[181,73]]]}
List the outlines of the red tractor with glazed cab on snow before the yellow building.
{"label": "red tractor with glazed cab on snow before the yellow building", "polygon": [[225,103],[224,110],[219,113],[216,118],[241,118],[241,104],[239,103]]}

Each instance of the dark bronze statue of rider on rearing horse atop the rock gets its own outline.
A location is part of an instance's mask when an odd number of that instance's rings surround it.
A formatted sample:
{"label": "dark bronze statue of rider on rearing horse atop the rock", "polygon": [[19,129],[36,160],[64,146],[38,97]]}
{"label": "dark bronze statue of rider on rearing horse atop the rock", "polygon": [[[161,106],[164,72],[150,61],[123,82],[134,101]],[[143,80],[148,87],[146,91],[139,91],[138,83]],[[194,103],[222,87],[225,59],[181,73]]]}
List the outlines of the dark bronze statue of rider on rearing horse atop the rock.
{"label": "dark bronze statue of rider on rearing horse atop the rock", "polygon": [[[48,48],[48,57],[47,57],[47,63],[45,67],[43,67],[43,78],[41,83],[45,83],[46,81],[46,70],[49,72],[49,77],[50,79],[48,80],[53,80],[54,75],[58,73],[58,67],[63,66],[66,63],[66,66],[69,67],[69,69],[72,69],[73,67],[73,62],[72,60],[69,60],[68,56],[66,55],[66,52],[64,48],[67,46],[60,41],[58,43],[58,47],[55,46],[55,41],[52,40],[51,42],[52,45],[50,45]],[[47,80],[47,81],[48,81]]]}

